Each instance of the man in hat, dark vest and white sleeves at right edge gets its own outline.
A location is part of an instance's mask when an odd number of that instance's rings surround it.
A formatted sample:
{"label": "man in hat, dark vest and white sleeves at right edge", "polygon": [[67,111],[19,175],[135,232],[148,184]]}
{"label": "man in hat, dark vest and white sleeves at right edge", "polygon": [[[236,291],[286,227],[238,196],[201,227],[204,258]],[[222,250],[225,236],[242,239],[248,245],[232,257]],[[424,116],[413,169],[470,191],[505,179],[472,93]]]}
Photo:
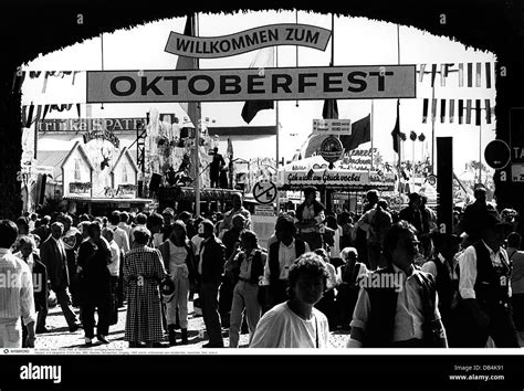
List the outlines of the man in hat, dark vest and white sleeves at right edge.
{"label": "man in hat, dark vest and white sleeves at right edge", "polygon": [[485,347],[491,337],[499,348],[518,347],[511,316],[511,267],[505,250],[506,223],[485,213],[481,240],[459,258],[459,293],[462,298],[460,347]]}

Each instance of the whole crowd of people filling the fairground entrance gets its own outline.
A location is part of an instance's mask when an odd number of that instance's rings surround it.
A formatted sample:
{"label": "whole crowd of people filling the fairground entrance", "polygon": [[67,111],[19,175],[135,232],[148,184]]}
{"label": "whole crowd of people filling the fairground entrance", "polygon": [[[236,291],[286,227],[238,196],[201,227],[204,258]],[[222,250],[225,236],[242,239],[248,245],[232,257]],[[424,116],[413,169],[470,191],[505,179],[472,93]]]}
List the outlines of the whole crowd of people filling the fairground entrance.
{"label": "whole crowd of people filling the fairground entrance", "polygon": [[231,348],[243,331],[251,348],[326,348],[337,329],[350,334],[348,348],[516,348],[524,252],[515,213],[499,213],[485,193],[475,187],[475,202],[442,232],[423,194],[397,213],[371,190],[360,215],[335,215],[306,188],[265,247],[241,193],[207,216],[166,208],[3,220],[0,273],[19,284],[0,287],[0,347],[34,347],[52,292],[87,346],[111,342],[119,308],[130,348],[186,345],[192,300],[209,348],[224,347],[224,328]]}

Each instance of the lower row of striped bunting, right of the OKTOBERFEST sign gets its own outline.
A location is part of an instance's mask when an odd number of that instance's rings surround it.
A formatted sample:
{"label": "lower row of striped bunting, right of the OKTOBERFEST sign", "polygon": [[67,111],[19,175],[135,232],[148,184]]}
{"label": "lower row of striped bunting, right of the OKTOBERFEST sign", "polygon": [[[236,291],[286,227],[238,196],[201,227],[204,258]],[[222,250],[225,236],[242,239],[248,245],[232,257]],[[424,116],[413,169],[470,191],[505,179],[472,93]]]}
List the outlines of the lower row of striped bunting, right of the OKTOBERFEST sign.
{"label": "lower row of striped bunting, right of the OKTOBERFEST sign", "polygon": [[[429,113],[429,106],[431,101],[431,113]],[[439,103],[440,101],[440,103]],[[458,101],[458,103],[455,103]],[[492,116],[494,115],[493,104],[491,99],[475,99],[474,107],[472,99],[422,99],[422,124],[428,123],[428,116],[431,117],[431,121],[436,121],[440,117],[440,123],[453,124],[455,121],[455,116],[458,115],[458,124],[462,125],[464,121],[464,108],[465,108],[465,124],[472,124],[472,110],[474,110],[474,125],[481,125],[482,117],[485,118],[486,124],[492,123]],[[437,113],[437,110],[439,110]],[[458,114],[457,114],[457,112]],[[485,116],[482,115],[482,110],[485,110]]]}

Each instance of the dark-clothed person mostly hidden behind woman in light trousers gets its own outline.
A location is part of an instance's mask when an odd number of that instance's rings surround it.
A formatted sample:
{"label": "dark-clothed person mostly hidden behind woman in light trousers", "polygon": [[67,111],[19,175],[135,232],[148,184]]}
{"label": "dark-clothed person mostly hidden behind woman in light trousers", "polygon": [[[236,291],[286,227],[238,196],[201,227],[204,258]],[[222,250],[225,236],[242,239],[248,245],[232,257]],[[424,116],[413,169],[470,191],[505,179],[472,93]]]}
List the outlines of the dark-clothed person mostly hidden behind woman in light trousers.
{"label": "dark-clothed person mostly hidden behind woman in light trousers", "polygon": [[[233,218],[233,226],[226,231],[222,236],[222,243],[226,246],[226,260],[232,261],[232,257],[237,255],[235,249],[240,246],[240,233],[243,231],[245,225],[245,218],[242,214],[237,214]],[[219,313],[222,327],[228,328],[230,325],[231,306],[233,304],[233,289],[237,284],[238,275],[233,272],[224,270],[222,276],[222,284],[220,285],[219,295]]]}

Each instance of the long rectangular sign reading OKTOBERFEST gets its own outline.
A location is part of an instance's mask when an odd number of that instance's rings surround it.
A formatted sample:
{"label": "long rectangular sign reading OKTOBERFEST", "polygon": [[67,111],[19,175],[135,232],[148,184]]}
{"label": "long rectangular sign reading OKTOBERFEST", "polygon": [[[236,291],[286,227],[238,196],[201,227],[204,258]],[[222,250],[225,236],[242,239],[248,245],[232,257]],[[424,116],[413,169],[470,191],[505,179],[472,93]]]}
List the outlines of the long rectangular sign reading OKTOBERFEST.
{"label": "long rectangular sign reading OKTOBERFEST", "polygon": [[88,71],[87,103],[415,98],[415,65]]}

